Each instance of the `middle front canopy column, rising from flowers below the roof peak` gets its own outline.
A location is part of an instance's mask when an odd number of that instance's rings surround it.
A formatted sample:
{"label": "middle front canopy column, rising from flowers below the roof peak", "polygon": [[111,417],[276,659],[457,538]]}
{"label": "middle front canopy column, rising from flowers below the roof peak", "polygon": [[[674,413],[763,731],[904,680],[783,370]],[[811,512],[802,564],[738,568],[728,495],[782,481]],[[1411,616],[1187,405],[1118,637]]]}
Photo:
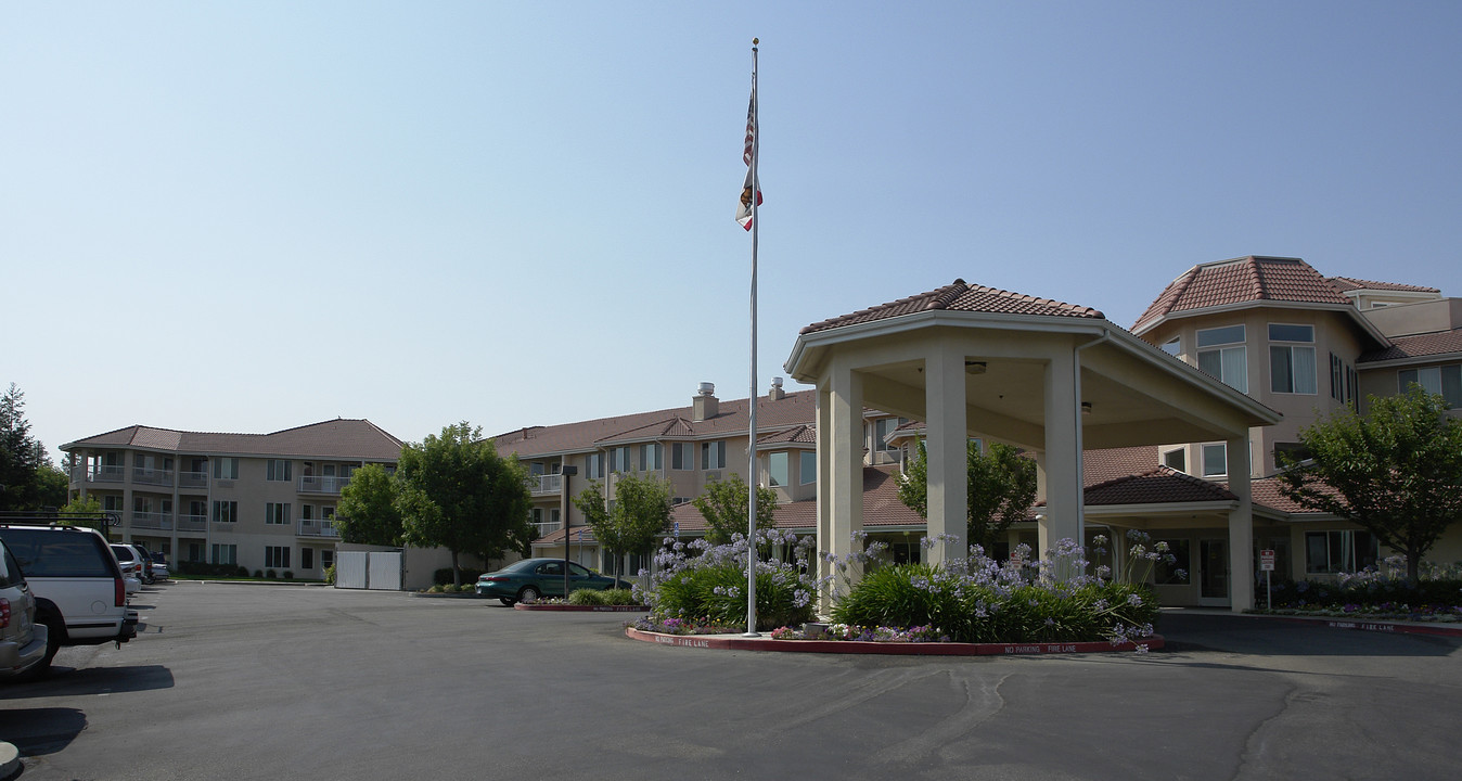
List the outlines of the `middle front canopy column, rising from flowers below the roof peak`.
{"label": "middle front canopy column, rising from flowers below the roof peak", "polygon": [[963,559],[969,547],[969,426],[965,411],[965,354],[940,341],[924,358],[924,408],[928,420],[930,563]]}

